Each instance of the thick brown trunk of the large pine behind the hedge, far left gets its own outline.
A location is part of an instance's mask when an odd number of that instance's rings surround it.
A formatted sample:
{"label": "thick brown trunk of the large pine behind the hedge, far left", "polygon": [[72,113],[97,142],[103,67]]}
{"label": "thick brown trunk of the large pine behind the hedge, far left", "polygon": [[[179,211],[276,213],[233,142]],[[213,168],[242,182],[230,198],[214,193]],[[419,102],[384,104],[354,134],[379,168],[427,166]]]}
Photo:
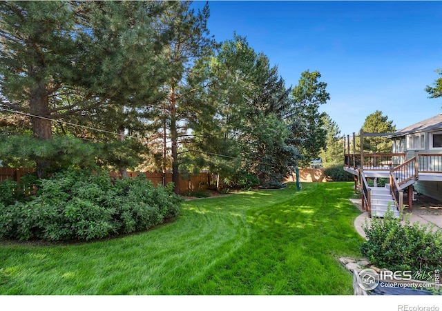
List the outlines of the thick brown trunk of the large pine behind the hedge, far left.
{"label": "thick brown trunk of the large pine behind the hedge, far left", "polygon": [[[39,117],[49,118],[49,97],[46,91],[46,83],[40,81],[34,90],[31,90],[29,108],[32,115],[32,132],[34,137],[41,140],[52,139],[52,121],[49,119],[41,119]],[[50,165],[48,159],[37,160],[37,177],[44,177],[46,169]]]}

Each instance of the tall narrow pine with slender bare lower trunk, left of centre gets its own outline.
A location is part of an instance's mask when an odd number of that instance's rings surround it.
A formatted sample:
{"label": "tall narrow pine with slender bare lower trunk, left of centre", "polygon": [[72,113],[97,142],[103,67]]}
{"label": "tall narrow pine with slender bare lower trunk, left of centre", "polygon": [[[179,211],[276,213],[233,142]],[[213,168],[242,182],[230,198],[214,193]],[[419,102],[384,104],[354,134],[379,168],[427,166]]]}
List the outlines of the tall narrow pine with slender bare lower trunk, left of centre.
{"label": "tall narrow pine with slender bare lower trunk, left of centre", "polygon": [[[179,192],[179,159],[178,146],[180,137],[187,134],[189,114],[198,108],[190,98],[191,94],[204,86],[194,88],[189,79],[198,75],[198,66],[195,63],[202,57],[209,57],[215,48],[215,41],[209,37],[207,19],[209,6],[202,10],[190,8],[189,1],[172,2],[168,10],[162,15],[162,23],[169,28],[166,56],[168,58],[168,79],[163,90],[166,98],[162,101],[164,117],[164,135],[169,134],[172,156],[172,179],[174,191]],[[198,80],[198,79],[197,79]],[[166,139],[164,139],[166,141]],[[166,147],[164,147],[166,148]]]}

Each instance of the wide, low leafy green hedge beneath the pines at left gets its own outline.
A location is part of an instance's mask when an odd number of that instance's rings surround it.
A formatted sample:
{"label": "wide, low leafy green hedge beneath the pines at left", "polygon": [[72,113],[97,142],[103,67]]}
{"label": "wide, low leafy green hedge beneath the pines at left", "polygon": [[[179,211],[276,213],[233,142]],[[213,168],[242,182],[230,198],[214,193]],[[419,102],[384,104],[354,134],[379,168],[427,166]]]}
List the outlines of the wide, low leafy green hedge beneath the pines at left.
{"label": "wide, low leafy green hedge beneath the pines at left", "polygon": [[172,188],[154,188],[144,174],[111,180],[108,172],[59,172],[28,201],[11,203],[10,194],[0,203],[0,238],[90,240],[145,230],[180,213]]}

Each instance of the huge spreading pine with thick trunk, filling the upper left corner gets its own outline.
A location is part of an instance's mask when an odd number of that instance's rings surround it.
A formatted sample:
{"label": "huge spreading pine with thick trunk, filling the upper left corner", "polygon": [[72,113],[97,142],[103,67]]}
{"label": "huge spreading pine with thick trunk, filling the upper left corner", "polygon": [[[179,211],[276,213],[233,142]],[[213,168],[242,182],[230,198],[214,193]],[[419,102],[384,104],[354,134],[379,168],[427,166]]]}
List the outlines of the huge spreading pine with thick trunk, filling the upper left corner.
{"label": "huge spreading pine with thick trunk, filling the upper left corner", "polygon": [[[35,116],[32,131],[42,140],[52,139],[52,119],[119,132],[139,125],[140,102],[162,83],[155,28],[162,6],[1,2],[1,106]],[[49,164],[37,161],[39,177]]]}

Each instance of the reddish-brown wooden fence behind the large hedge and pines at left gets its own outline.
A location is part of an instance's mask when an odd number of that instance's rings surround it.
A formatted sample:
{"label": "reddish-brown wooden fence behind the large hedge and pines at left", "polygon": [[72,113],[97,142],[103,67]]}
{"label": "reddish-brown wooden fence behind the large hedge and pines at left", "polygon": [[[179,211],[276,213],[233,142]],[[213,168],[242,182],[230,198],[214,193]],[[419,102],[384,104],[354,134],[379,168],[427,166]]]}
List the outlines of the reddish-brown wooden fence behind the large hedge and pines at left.
{"label": "reddish-brown wooden fence behind the large hedge and pines at left", "polygon": [[[19,182],[21,177],[28,172],[35,172],[34,168],[2,168],[0,167],[0,181],[12,179]],[[128,172],[128,177],[136,177],[138,174],[146,174],[146,178],[153,182],[153,185],[170,183],[172,181],[172,173],[163,174],[162,172]],[[109,172],[109,176],[119,178],[118,172]],[[180,193],[204,190],[209,188],[209,184],[213,181],[213,174],[202,172],[198,175],[180,174]]]}

